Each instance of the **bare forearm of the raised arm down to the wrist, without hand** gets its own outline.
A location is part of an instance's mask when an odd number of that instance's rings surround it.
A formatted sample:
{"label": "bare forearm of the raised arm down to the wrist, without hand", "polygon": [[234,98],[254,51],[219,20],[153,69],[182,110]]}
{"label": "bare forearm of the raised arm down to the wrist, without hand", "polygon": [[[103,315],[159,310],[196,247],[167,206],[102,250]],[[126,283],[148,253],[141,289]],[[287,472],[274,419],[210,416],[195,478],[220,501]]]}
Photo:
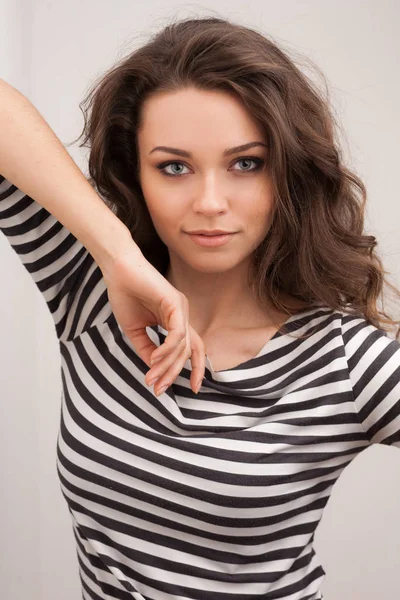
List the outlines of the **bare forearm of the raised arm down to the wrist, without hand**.
{"label": "bare forearm of the raised arm down to the wrist, without hand", "polygon": [[90,252],[102,270],[125,248],[128,228],[104,204],[31,102],[0,79],[0,173],[46,208]]}

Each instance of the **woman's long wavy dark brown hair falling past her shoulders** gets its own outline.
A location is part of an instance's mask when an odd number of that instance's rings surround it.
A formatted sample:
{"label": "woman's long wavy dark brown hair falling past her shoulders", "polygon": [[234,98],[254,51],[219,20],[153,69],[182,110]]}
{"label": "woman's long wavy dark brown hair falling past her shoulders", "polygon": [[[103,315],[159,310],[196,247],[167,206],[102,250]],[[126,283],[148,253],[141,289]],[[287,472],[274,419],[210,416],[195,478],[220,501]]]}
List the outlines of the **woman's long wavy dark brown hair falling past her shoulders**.
{"label": "woman's long wavy dark brown hair falling past her shoulders", "polygon": [[[308,61],[311,63],[311,61]],[[236,94],[259,123],[275,193],[271,227],[252,256],[249,285],[261,306],[293,314],[284,292],[306,306],[393,320],[378,307],[385,279],[377,240],[364,232],[366,188],[343,164],[338,122],[325,95],[267,36],[225,18],[172,20],[94,82],[80,103],[78,141],[90,148],[88,180],[162,274],[169,253],[139,182],[137,131],[157,92],[187,87]],[[400,327],[395,337],[400,336]]]}

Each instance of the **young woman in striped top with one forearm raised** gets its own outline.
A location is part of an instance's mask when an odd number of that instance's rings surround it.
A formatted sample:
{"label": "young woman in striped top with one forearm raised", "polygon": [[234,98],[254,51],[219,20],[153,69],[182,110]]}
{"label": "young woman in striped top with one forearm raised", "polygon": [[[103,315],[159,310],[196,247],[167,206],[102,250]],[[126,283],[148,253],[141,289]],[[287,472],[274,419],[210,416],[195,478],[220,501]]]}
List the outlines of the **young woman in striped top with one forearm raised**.
{"label": "young woman in striped top with one forearm raised", "polygon": [[398,321],[326,100],[206,18],[93,87],[92,185],[5,82],[0,103],[0,226],[60,343],[83,598],[322,598],[334,483],[400,447]]}

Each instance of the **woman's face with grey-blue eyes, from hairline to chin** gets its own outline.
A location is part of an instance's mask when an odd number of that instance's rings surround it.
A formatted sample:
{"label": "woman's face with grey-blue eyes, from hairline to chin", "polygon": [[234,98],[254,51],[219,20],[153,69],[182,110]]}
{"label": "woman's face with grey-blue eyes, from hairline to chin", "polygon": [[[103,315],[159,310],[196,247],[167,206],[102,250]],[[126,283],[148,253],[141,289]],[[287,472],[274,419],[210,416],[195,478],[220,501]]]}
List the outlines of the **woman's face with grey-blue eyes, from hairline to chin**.
{"label": "woman's face with grey-blue eyes, from hairline to chin", "polygon": [[[187,88],[145,102],[138,131],[140,183],[171,265],[179,261],[202,273],[221,273],[249,261],[266,236],[274,204],[263,168],[267,148],[229,152],[251,142],[264,144],[262,132],[228,93]],[[222,246],[203,247],[187,234],[198,229],[235,235]]]}

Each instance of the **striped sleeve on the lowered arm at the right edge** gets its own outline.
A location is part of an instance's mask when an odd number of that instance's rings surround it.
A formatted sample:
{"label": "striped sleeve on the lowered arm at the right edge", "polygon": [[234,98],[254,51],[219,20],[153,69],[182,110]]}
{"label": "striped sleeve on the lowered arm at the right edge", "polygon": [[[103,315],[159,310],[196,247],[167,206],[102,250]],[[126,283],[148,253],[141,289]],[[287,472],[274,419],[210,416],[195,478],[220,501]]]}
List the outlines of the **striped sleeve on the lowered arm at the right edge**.
{"label": "striped sleeve on the lowered arm at the right edge", "polygon": [[400,344],[364,318],[342,317],[356,410],[370,444],[400,448]]}

